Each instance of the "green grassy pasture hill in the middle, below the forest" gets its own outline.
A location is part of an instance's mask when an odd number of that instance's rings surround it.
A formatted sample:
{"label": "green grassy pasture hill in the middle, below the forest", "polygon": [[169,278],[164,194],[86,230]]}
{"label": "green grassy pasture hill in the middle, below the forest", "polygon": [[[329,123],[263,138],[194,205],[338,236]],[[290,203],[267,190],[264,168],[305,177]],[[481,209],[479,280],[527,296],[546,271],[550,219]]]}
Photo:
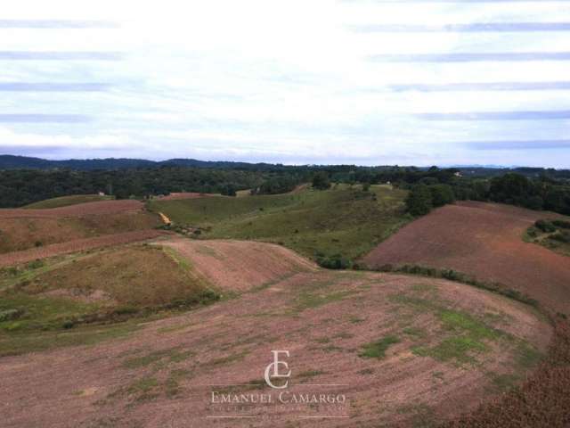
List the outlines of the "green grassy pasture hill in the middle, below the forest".
{"label": "green grassy pasture hill in the middle, below the forest", "polygon": [[199,228],[202,238],[281,243],[312,259],[354,260],[411,221],[406,192],[374,185],[338,185],[328,191],[248,198],[210,197],[150,202],[176,224]]}

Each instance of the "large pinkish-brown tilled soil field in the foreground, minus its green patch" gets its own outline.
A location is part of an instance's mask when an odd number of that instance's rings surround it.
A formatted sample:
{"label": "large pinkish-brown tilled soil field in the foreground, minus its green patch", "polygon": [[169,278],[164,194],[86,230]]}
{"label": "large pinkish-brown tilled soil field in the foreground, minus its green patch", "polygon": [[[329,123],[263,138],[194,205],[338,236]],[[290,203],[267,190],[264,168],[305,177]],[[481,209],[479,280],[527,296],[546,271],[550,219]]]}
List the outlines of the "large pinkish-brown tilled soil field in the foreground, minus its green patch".
{"label": "large pinkish-brown tilled soil field in the foreground, minus its green patch", "polygon": [[[454,310],[476,317],[494,314],[496,328],[541,350],[550,340],[550,326],[523,305],[464,285],[374,273],[300,273],[257,292],[147,324],[126,339],[2,358],[2,425],[376,427],[400,422],[413,426],[458,415],[496,392],[491,374],[509,374],[515,363],[499,345],[477,355],[479,364],[467,367],[414,355],[414,344],[441,340],[438,318],[394,298],[425,297],[425,292]],[[306,300],[307,293],[341,297]],[[405,327],[421,328],[426,335],[406,335]],[[359,357],[363,344],[387,334],[397,334],[400,342],[385,358]],[[263,381],[271,350],[290,352],[289,396],[346,394],[346,405],[209,404],[211,391],[273,393],[276,399],[280,391]],[[211,386],[248,383],[233,389]],[[211,417],[228,415],[254,417]],[[301,417],[323,415],[348,417]]]}

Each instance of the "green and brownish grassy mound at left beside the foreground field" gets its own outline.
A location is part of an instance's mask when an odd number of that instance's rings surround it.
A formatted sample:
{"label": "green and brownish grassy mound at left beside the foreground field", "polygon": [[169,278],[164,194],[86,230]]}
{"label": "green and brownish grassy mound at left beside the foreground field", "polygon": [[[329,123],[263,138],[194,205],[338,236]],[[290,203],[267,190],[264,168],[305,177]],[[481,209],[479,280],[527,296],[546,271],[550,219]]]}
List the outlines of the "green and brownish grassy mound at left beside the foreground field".
{"label": "green and brownish grassy mound at left beside the foreground field", "polygon": [[7,348],[0,353],[46,349],[49,340],[90,342],[69,330],[154,319],[218,299],[171,251],[144,244],[2,269],[0,342]]}

